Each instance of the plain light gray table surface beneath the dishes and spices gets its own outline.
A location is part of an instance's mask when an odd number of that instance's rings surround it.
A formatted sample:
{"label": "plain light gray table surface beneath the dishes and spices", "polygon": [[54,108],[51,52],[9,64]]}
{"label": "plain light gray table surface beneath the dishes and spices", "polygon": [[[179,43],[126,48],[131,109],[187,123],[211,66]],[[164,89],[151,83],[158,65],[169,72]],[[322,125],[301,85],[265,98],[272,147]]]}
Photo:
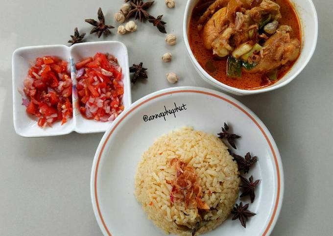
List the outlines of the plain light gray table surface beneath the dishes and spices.
{"label": "plain light gray table surface beneath the dishes and spices", "polygon": [[[157,0],[152,15],[164,14],[167,31],[178,36],[168,47],[165,35],[150,24],[107,40],[120,40],[130,64],[143,61],[149,79],[132,88],[133,101],[168,88],[165,74],[180,76],[175,86],[210,87],[194,71],[182,37],[185,0],[168,9]],[[0,14],[0,235],[101,236],[90,200],[90,172],[103,134],[26,139],[13,127],[11,56],[17,47],[66,44],[74,27],[89,32],[85,18],[102,7],[106,22],[122,0],[1,0]],[[237,97],[252,109],[273,135],[284,165],[285,195],[273,236],[332,235],[333,167],[333,2],[314,0],[319,18],[317,49],[306,69],[279,90]],[[113,30],[116,32],[116,30]],[[87,41],[97,41],[88,36]],[[67,44],[66,44],[67,45]],[[147,50],[147,47],[149,49]],[[171,64],[160,56],[170,51]],[[324,189],[324,190],[323,190]]]}

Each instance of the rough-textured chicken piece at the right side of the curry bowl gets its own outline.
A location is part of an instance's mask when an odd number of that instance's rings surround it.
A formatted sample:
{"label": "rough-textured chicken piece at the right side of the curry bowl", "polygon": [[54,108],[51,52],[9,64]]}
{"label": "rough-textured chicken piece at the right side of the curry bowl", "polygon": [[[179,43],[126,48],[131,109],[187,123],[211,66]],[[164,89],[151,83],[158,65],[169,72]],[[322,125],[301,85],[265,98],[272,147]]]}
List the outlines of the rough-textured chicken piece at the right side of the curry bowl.
{"label": "rough-textured chicken piece at the right side of the curry bowl", "polygon": [[272,71],[287,62],[297,59],[301,43],[298,39],[290,39],[290,26],[280,26],[263,45],[260,51],[259,64],[248,71],[250,73]]}

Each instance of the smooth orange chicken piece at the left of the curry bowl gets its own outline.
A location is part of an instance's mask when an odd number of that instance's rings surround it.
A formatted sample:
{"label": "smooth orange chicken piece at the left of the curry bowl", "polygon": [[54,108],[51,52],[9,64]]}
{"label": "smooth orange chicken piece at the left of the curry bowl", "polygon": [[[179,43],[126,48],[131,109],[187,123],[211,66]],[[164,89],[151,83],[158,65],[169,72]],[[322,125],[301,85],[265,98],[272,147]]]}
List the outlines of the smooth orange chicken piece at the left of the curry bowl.
{"label": "smooth orange chicken piece at the left of the curry bowl", "polygon": [[202,30],[202,42],[208,49],[212,49],[213,41],[222,33],[227,27],[226,7],[219,9],[212,16],[211,19],[205,24]]}

